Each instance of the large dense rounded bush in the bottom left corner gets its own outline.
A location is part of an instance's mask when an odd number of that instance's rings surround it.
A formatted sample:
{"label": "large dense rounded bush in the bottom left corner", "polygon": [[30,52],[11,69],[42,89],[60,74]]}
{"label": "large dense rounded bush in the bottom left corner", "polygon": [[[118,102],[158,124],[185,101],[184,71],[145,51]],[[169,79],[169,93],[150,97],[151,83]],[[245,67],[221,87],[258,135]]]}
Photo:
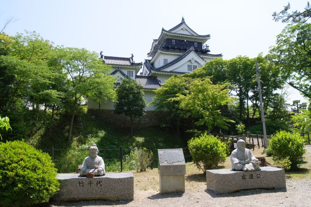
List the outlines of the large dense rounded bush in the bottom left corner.
{"label": "large dense rounded bush in the bottom left corner", "polygon": [[0,206],[48,202],[59,182],[51,157],[22,141],[0,143]]}

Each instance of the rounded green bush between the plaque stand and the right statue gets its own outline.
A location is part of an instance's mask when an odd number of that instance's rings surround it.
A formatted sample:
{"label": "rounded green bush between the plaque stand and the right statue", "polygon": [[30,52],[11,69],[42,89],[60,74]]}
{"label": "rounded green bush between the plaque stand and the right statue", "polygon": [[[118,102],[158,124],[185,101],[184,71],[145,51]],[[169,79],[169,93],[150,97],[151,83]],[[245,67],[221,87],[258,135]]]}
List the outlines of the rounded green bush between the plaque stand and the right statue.
{"label": "rounded green bush between the plaque stand and the right statue", "polygon": [[207,133],[198,138],[191,138],[188,141],[188,148],[193,162],[204,174],[207,169],[215,169],[219,163],[225,162],[225,143]]}

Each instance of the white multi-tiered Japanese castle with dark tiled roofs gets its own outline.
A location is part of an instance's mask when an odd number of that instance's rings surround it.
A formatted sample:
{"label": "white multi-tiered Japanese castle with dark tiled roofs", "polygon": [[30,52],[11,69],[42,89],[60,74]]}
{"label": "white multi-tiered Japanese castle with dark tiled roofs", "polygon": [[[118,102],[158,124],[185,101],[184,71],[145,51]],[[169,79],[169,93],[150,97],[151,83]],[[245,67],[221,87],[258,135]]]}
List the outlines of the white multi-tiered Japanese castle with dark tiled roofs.
{"label": "white multi-tiered Japanese castle with dark tiled roofs", "polygon": [[[151,59],[145,59],[144,63],[135,63],[134,56],[113,57],[104,56],[101,59],[104,64],[111,67],[111,73],[117,78],[117,86],[124,78],[132,78],[144,90],[144,98],[147,103],[152,102],[155,89],[159,88],[172,75],[180,75],[192,72],[205,65],[206,62],[222,57],[222,54],[209,53],[209,47],[204,45],[210,35],[198,35],[185,22],[184,17],[179,24],[170,30],[162,28],[161,35],[153,40],[151,50],[147,53]],[[143,66],[142,72],[138,71]],[[98,104],[88,100],[89,109],[97,109]],[[114,109],[114,103],[101,103],[101,109]],[[153,111],[154,106],[146,107],[147,111]]]}

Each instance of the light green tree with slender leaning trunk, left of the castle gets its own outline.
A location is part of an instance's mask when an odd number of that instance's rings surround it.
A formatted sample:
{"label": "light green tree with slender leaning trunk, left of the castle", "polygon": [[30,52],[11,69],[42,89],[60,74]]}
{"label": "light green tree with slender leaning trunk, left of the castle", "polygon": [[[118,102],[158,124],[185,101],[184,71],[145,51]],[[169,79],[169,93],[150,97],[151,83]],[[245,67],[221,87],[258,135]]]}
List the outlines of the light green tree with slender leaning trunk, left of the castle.
{"label": "light green tree with slender leaning trunk, left of the castle", "polygon": [[98,59],[95,52],[89,52],[86,49],[58,48],[53,57],[53,63],[55,67],[62,68],[69,78],[67,95],[71,99],[71,118],[68,136],[70,141],[73,121],[80,99],[82,96],[91,94],[100,87],[104,87],[101,85],[106,85],[106,88],[112,87],[112,76],[104,75],[104,73],[108,73],[107,66]]}

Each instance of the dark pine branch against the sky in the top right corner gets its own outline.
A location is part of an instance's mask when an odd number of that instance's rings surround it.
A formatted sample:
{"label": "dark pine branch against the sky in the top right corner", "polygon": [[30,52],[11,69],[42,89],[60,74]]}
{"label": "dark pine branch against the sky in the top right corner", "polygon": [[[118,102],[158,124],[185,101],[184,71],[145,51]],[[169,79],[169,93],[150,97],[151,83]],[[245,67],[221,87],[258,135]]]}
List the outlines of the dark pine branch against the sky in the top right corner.
{"label": "dark pine branch against the sky in the top right corner", "polygon": [[305,7],[305,10],[300,11],[294,11],[292,13],[289,13],[289,9],[291,8],[290,3],[288,3],[286,6],[284,6],[284,9],[280,11],[279,13],[274,12],[272,17],[273,20],[279,21],[282,20],[282,22],[292,22],[292,23],[305,23],[308,21],[308,19],[311,17],[311,6],[309,1],[307,2],[307,6]]}

